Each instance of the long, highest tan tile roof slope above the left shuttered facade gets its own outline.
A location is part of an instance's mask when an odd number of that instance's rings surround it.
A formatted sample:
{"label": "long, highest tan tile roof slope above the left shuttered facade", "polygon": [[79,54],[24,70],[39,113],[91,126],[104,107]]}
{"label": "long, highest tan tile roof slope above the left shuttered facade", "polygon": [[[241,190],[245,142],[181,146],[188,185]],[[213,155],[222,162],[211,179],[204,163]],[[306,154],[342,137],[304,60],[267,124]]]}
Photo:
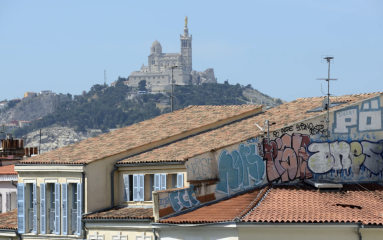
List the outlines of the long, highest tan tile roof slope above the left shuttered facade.
{"label": "long, highest tan tile roof slope above the left shuttered facade", "polygon": [[149,143],[256,112],[260,105],[189,106],[21,161],[19,164],[88,164]]}

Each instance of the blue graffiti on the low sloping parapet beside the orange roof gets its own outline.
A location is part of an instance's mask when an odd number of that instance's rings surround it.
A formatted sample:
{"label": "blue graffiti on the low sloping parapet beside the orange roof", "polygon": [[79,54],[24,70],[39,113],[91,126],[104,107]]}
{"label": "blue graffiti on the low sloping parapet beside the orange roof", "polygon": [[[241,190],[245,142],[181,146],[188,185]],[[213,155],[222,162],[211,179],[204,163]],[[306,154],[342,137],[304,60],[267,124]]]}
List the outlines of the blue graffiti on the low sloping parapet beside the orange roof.
{"label": "blue graffiti on the low sloping parapet beside the orange roof", "polygon": [[170,204],[174,211],[179,212],[183,208],[191,208],[201,202],[196,198],[196,192],[191,185],[188,189],[177,190],[169,194]]}

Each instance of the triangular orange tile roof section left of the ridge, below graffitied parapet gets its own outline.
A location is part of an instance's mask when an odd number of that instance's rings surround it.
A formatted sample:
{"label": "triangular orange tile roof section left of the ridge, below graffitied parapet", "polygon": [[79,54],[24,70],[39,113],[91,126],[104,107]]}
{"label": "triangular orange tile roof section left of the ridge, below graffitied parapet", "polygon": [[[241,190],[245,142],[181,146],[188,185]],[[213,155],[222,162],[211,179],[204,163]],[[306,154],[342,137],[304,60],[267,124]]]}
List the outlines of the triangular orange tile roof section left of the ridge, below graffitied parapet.
{"label": "triangular orange tile roof section left of the ridge, below graffitied parapet", "polygon": [[160,222],[174,224],[231,222],[236,218],[240,219],[244,214],[248,213],[254,206],[256,206],[267,192],[268,188],[269,186],[254,189],[227,200],[202,206],[191,212],[163,219]]}

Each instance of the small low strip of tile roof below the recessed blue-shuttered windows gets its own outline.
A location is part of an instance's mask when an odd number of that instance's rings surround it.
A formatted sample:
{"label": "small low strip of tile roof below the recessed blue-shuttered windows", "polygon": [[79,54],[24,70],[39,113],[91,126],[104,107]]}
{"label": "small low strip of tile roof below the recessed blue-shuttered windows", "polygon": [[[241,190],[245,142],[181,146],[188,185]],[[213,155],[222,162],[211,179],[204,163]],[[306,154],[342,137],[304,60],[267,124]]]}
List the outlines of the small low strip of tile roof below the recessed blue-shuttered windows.
{"label": "small low strip of tile roof below the recessed blue-shuttered windows", "polygon": [[114,207],[106,211],[85,215],[83,219],[153,219],[152,208]]}

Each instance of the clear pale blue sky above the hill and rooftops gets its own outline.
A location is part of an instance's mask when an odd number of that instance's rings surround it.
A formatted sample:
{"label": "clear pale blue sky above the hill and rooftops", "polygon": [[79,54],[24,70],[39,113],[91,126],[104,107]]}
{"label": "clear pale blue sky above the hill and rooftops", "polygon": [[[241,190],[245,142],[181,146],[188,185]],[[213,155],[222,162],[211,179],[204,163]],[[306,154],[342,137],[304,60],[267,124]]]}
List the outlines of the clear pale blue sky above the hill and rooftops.
{"label": "clear pale blue sky above the hill and rooftops", "polygon": [[292,101],[383,91],[383,1],[0,1],[0,100],[78,95],[147,65],[156,39],[180,52],[188,16],[193,70]]}

